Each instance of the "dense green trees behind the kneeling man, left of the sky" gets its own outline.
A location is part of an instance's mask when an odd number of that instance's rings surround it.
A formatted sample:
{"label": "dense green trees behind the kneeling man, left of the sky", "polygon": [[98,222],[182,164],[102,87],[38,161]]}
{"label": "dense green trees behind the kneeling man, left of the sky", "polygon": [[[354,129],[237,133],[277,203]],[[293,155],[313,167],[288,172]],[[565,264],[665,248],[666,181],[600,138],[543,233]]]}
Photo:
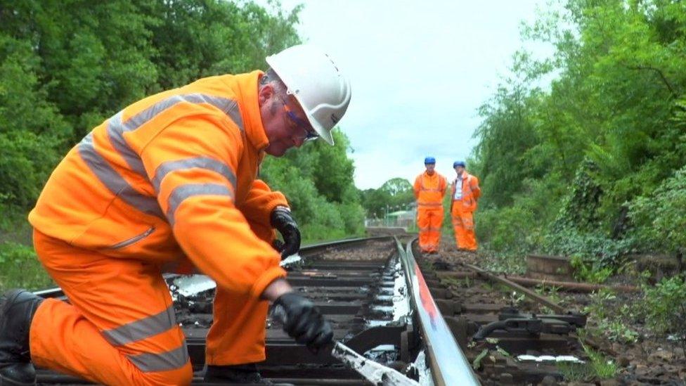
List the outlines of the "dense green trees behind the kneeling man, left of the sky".
{"label": "dense green trees behind the kneeling man, left of the sky", "polygon": [[[301,9],[285,12],[278,1],[0,0],[0,228],[25,221],[17,218],[60,157],[93,126],[157,91],[266,68],[268,54],[299,43]],[[292,202],[306,239],[363,231],[349,141],[336,141],[308,144],[262,170]]]}

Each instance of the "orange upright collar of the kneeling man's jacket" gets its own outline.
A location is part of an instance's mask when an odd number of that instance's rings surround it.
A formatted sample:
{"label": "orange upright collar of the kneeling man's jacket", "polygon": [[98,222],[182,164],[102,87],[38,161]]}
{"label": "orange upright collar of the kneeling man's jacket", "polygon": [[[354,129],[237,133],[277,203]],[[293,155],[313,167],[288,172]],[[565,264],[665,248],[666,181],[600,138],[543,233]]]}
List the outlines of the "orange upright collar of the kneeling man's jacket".
{"label": "orange upright collar of the kneeling man's jacket", "polygon": [[259,77],[264,72],[255,70],[247,74],[235,76],[238,89],[234,91],[238,94],[240,111],[243,118],[245,136],[248,141],[260,152],[269,145],[269,139],[262,126],[262,117],[259,113],[258,82]]}

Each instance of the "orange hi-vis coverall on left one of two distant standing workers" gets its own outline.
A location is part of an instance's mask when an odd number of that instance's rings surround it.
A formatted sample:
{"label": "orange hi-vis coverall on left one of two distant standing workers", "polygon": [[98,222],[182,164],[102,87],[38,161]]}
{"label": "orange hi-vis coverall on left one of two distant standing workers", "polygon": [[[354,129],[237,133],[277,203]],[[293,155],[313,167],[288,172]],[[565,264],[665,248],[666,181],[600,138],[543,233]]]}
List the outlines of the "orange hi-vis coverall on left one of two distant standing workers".
{"label": "orange hi-vis coverall on left one of two distant standing workers", "polygon": [[448,188],[446,177],[438,172],[424,172],[415,179],[417,198],[417,226],[422,252],[438,252],[443,224],[443,196]]}

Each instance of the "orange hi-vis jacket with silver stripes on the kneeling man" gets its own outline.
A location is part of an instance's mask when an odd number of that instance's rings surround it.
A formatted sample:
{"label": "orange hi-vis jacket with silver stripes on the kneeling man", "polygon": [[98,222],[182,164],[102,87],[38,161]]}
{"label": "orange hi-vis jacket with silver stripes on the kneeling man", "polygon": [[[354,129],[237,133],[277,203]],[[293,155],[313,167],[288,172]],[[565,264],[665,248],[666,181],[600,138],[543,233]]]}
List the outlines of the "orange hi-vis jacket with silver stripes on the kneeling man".
{"label": "orange hi-vis jacket with silver stripes on the kneeling man", "polygon": [[255,236],[287,205],[257,178],[268,139],[261,72],[208,77],[129,105],[60,162],[29,221],[38,231],[160,269],[188,260],[219,285],[259,296],[285,276]]}

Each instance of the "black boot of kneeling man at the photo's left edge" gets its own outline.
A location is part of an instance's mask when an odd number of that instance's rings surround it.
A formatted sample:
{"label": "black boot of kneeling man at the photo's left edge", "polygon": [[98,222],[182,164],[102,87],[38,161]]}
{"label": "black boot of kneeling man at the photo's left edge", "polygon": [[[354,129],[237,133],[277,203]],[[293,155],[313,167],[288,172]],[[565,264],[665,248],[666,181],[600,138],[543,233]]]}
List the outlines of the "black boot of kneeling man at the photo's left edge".
{"label": "black boot of kneeling man at the photo's left edge", "polygon": [[0,297],[0,385],[36,384],[29,353],[29,328],[43,298],[27,290],[11,290]]}

